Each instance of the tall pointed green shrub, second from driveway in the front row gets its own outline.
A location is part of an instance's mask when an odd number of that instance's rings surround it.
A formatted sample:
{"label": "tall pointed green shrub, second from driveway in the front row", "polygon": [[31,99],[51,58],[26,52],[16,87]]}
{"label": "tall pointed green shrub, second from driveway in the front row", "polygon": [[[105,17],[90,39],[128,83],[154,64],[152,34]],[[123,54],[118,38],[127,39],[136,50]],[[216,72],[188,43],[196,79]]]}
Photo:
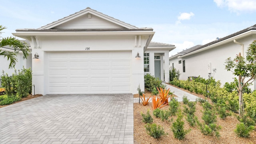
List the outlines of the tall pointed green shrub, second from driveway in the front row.
{"label": "tall pointed green shrub, second from driveway in the front row", "polygon": [[172,132],[174,135],[174,138],[177,138],[178,140],[183,140],[185,138],[185,135],[190,132],[189,130],[184,130],[184,121],[182,120],[183,114],[181,110],[178,110],[177,119],[172,124]]}

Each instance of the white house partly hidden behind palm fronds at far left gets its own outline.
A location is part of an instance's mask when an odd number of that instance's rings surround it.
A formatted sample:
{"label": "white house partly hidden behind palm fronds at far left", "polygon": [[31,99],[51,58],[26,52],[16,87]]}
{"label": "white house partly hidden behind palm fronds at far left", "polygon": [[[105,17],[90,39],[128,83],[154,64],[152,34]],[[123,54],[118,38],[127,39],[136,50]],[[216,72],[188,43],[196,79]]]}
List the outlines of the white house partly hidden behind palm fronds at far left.
{"label": "white house partly hidden behind palm fronds at far left", "polygon": [[[26,44],[28,44],[28,47],[30,49],[30,43],[28,40],[21,40],[22,42],[26,42]],[[10,47],[10,46],[4,46],[2,48],[0,48],[1,50],[4,51],[10,51],[10,52],[14,52],[14,48]],[[31,51],[31,49],[30,49]],[[32,55],[29,54],[27,59],[23,59],[23,54],[22,52],[20,52],[17,55],[17,62],[14,66],[14,68],[10,68],[9,69],[9,64],[10,61],[7,60],[7,57],[4,58],[4,56],[0,56],[0,72],[2,75],[2,71],[4,70],[4,73],[7,73],[8,75],[12,75],[12,73],[14,73],[14,70],[20,70],[23,68],[31,68],[32,67]]]}

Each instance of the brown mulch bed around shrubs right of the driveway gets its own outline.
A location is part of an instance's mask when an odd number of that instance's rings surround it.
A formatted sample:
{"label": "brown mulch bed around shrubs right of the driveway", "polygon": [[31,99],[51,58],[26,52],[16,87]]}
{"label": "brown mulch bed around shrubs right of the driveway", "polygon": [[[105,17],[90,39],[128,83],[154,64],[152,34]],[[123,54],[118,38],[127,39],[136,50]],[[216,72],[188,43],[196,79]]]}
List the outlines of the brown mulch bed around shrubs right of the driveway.
{"label": "brown mulch bed around shrubs right of the driveway", "polygon": [[[176,86],[174,86],[176,87]],[[181,89],[181,88],[180,88]],[[184,89],[181,89],[184,90]],[[184,90],[186,91],[186,90]],[[189,91],[186,91],[188,93],[191,93]],[[195,96],[198,96],[200,98],[205,98],[203,95],[200,94],[194,94]],[[209,100],[210,101],[210,100]],[[180,108],[183,110],[183,102],[180,102]],[[162,110],[168,110],[169,106],[165,106],[164,108],[161,108]],[[146,129],[144,127],[144,123],[142,122],[142,116],[141,112],[146,114],[147,110],[150,110],[150,114],[153,117],[153,123],[159,124],[164,128],[164,131],[168,134],[165,136],[162,136],[159,139],[152,138],[146,133]],[[202,111],[203,108],[200,106],[200,103],[198,102],[196,104],[196,112],[195,115],[198,117],[200,122],[203,122],[202,120]],[[232,116],[228,116],[225,120],[222,120],[217,117],[217,124],[220,125],[222,128],[219,131],[220,132],[220,138],[216,138],[215,136],[205,136],[201,133],[198,126],[191,127],[188,125],[188,122],[186,121],[186,116],[184,115],[184,129],[188,130],[191,128],[191,131],[185,136],[184,140],[177,140],[173,136],[173,132],[171,130],[172,123],[176,120],[176,116],[171,116],[169,119],[173,118],[172,122],[164,121],[160,118],[155,118],[152,114],[152,108],[151,103],[148,106],[143,106],[142,104],[134,103],[134,144],[256,144],[256,131],[253,130],[250,133],[249,138],[240,138],[238,137],[234,129],[236,128],[236,124],[239,123],[239,121],[236,118],[237,114],[233,114]]]}

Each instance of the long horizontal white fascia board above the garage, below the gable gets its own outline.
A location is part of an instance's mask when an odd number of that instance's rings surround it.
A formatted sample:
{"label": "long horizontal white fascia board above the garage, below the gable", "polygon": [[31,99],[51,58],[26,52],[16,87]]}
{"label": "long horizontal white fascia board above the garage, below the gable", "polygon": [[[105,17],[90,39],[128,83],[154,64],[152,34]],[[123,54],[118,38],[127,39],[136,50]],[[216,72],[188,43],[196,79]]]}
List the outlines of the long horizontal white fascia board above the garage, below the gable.
{"label": "long horizontal white fascia board above the garage, below the gable", "polygon": [[152,31],[122,31],[122,32],[16,32],[14,36],[89,36],[89,35],[154,35]]}

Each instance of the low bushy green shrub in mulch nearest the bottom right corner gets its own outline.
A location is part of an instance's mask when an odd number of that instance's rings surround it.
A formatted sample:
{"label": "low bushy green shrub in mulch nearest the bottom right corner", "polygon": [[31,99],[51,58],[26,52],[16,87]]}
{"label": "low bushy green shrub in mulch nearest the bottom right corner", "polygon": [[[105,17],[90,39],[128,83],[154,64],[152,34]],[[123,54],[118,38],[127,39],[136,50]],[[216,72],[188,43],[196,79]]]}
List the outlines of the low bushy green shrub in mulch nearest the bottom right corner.
{"label": "low bushy green shrub in mulch nearest the bottom right corner", "polygon": [[235,133],[239,137],[247,138],[250,136],[250,132],[254,129],[254,126],[246,126],[243,122],[236,125]]}

